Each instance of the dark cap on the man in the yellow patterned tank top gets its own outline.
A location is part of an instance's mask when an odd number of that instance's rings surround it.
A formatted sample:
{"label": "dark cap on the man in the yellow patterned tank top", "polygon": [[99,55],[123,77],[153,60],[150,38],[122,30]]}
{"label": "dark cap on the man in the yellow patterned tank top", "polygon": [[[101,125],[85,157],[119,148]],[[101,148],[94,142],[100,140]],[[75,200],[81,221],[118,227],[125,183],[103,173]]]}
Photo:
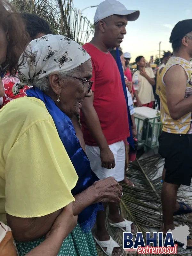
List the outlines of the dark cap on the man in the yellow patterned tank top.
{"label": "dark cap on the man in the yellow patterned tank top", "polygon": [[170,43],[181,40],[185,35],[192,31],[192,20],[179,21],[171,32]]}

